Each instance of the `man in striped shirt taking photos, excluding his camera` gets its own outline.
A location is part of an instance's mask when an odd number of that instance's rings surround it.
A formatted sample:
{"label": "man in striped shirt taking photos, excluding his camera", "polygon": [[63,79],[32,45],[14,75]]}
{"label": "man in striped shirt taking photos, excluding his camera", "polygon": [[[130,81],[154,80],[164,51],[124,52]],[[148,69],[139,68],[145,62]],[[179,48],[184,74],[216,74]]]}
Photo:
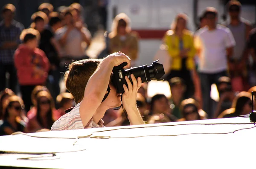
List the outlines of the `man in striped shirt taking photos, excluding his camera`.
{"label": "man in striped shirt taking photos, excluding his camera", "polygon": [[[136,106],[137,91],[141,78],[132,75],[132,82],[125,76],[128,87],[123,85],[125,93],[116,93],[110,82],[114,66],[127,62],[124,68],[131,65],[131,59],[121,52],[113,53],[105,59],[85,59],[73,62],[64,75],[65,85],[74,96],[76,107],[59,118],[51,130],[73,130],[104,127],[102,117],[106,110],[119,107],[127,111],[131,125],[144,124]],[[85,88],[85,89],[84,89]],[[108,90],[110,88],[110,91]]]}

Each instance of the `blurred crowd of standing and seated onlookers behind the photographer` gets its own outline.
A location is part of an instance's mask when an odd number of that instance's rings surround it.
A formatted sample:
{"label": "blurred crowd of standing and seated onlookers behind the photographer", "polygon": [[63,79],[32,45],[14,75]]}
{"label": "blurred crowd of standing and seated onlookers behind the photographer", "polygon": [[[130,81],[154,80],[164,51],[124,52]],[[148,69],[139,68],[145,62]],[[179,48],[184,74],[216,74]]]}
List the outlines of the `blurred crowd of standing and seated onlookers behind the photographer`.
{"label": "blurred crowd of standing and seated onlookers behind the photographer", "polygon": [[[92,37],[82,10],[79,3],[73,3],[56,12],[51,4],[43,3],[31,16],[30,27],[24,29],[14,20],[15,6],[6,4],[2,8],[0,135],[49,131],[65,110],[75,106],[75,96],[68,90],[61,93],[59,84],[67,65],[89,58],[85,50]],[[149,98],[148,83],[143,83],[137,107],[146,124],[250,113],[256,103],[251,100],[251,92],[256,92],[256,29],[240,17],[238,1],[229,1],[227,10],[230,19],[217,24],[217,10],[207,7],[195,32],[187,29],[189,16],[175,17],[163,37],[164,50],[171,60],[163,79],[169,82],[172,95]],[[118,14],[106,46],[108,54],[122,51],[130,56],[134,66],[140,38],[131,31],[131,22],[126,14]],[[218,101],[211,98],[212,84],[217,86]],[[103,121],[106,127],[129,125],[122,109],[108,110]]]}

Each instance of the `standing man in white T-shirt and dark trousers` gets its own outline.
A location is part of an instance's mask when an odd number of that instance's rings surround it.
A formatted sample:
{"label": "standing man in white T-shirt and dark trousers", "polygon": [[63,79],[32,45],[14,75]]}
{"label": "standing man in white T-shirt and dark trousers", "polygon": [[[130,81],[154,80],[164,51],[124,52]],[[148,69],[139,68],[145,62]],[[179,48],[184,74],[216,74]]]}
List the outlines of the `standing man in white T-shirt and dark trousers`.
{"label": "standing man in white T-shirt and dark trousers", "polygon": [[221,76],[227,76],[227,60],[233,54],[236,45],[229,28],[217,25],[217,10],[207,7],[204,17],[207,26],[195,34],[195,48],[199,55],[198,72],[203,93],[203,109],[212,118],[211,85],[216,84]]}

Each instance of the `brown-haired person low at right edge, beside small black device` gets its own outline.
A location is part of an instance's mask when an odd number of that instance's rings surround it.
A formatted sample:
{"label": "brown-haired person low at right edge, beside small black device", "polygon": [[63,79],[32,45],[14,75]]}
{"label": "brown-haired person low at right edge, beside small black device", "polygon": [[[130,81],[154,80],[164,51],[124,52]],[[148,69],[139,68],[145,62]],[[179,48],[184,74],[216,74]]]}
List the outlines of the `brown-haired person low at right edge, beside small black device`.
{"label": "brown-haired person low at right edge, beside small black device", "polygon": [[248,92],[240,92],[233,100],[232,108],[222,112],[218,118],[237,117],[239,115],[247,115],[252,111],[251,94]]}

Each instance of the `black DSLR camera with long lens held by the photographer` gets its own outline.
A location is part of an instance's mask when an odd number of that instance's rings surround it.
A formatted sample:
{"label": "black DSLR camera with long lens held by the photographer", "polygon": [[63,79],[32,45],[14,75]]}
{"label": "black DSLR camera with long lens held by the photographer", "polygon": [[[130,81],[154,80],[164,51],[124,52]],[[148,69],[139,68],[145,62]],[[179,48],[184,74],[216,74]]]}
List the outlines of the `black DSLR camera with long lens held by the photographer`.
{"label": "black DSLR camera with long lens held by the photographer", "polygon": [[164,75],[163,65],[157,63],[159,60],[156,60],[152,63],[151,66],[143,65],[136,68],[126,69],[124,70],[123,67],[127,65],[127,62],[123,62],[119,66],[115,66],[113,68],[113,76],[111,82],[114,87],[116,87],[117,93],[124,93],[125,90],[123,85],[127,86],[127,82],[125,80],[125,76],[128,76],[132,83],[131,74],[134,74],[135,78],[141,78],[142,83],[150,82],[153,79],[156,80],[163,80],[161,79]]}

